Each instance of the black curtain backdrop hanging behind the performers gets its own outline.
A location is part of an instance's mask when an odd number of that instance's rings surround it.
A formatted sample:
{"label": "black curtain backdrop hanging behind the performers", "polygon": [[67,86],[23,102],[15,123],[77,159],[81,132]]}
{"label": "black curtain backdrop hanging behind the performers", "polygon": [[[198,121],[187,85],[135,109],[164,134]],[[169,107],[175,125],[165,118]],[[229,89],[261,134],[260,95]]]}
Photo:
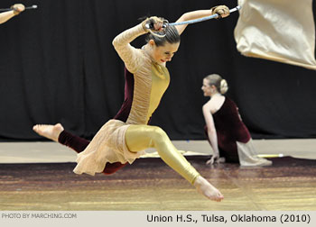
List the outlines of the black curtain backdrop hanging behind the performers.
{"label": "black curtain backdrop hanging behind the performers", "polygon": [[[0,7],[15,1],[1,0]],[[36,141],[35,123],[62,123],[90,139],[124,100],[124,65],[112,47],[144,15],[174,22],[182,13],[237,1],[42,0],[0,25],[0,138]],[[315,4],[313,5],[315,8]],[[171,85],[152,124],[172,140],[204,140],[202,78],[218,73],[254,138],[316,136],[316,72],[241,56],[238,14],[190,25],[168,64]],[[133,42],[144,44],[144,37]]]}

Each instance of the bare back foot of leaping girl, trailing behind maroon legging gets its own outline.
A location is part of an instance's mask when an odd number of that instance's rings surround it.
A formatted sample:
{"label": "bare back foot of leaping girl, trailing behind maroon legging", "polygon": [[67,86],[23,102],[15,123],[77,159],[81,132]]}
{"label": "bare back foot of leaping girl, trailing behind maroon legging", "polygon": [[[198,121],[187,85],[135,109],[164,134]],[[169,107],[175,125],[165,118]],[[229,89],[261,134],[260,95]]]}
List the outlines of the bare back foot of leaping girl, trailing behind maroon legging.
{"label": "bare back foot of leaping girl, trailing behind maroon legging", "polygon": [[55,125],[52,124],[36,124],[33,126],[33,131],[51,139],[51,141],[58,141],[58,137],[60,136],[60,132],[64,129],[60,123],[56,123]]}

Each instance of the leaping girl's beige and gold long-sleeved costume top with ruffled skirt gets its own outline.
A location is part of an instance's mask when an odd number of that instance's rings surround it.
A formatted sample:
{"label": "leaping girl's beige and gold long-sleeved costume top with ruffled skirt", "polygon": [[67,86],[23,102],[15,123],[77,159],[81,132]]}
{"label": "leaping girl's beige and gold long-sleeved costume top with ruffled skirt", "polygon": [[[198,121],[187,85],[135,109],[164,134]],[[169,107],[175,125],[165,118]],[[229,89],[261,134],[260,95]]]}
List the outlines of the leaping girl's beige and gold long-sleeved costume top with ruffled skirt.
{"label": "leaping girl's beige and gold long-sleeved costume top with ruffled skirt", "polygon": [[125,131],[131,124],[148,123],[170,81],[167,68],[155,63],[144,50],[135,49],[130,45],[131,41],[144,33],[142,24],[138,24],[117,35],[113,41],[118,55],[123,59],[128,70],[127,76],[125,75],[125,78],[128,77],[126,84],[129,91],[132,89],[133,95],[125,97],[125,104],[122,106],[125,117],[118,116],[116,119],[119,120],[108,121],[86,150],[79,153],[78,165],[74,169],[77,174],[94,175],[102,172],[107,162],[132,163],[144,154],[144,151],[130,152],[127,149]]}

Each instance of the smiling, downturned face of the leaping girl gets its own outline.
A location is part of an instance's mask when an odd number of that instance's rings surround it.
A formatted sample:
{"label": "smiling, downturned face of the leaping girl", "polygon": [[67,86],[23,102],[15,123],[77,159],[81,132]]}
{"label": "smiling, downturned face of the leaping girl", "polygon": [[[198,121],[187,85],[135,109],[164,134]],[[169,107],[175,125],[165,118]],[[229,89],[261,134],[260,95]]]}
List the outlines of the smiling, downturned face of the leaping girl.
{"label": "smiling, downturned face of the leaping girl", "polygon": [[165,42],[163,46],[157,47],[154,42],[151,43],[153,47],[152,57],[158,64],[164,64],[167,61],[171,61],[174,53],[178,51],[180,42],[169,43]]}

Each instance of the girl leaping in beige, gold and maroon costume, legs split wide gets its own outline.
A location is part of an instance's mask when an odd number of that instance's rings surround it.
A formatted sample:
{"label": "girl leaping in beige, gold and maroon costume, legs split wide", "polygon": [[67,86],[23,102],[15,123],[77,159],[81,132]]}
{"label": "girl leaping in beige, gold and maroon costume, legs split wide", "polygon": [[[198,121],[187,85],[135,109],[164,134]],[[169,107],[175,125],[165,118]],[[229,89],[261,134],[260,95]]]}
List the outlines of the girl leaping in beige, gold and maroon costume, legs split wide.
{"label": "girl leaping in beige, gold and maroon costume, legs split wide", "polygon": [[[211,10],[193,11],[183,14],[177,22],[210,14],[226,17],[229,10],[228,7],[220,5]],[[155,148],[163,161],[195,186],[200,194],[211,200],[221,201],[223,195],[200,176],[172,145],[167,134],[159,127],[147,125],[169,86],[170,77],[165,67],[166,62],[171,61],[178,50],[180,34],[187,26],[167,26],[162,32],[165,36],[149,34],[144,47],[135,49],[130,42],[149,32],[149,23],[154,31],[159,33],[163,30],[163,20],[151,17],[117,35],[113,41],[118,55],[125,62],[125,102],[114,119],[103,125],[92,141],[71,135],[64,131],[60,123],[35,125],[33,130],[78,151],[78,164],[74,169],[77,174],[94,175],[102,171],[113,173],[125,163],[132,163],[139,158],[144,154],[143,150]]]}

